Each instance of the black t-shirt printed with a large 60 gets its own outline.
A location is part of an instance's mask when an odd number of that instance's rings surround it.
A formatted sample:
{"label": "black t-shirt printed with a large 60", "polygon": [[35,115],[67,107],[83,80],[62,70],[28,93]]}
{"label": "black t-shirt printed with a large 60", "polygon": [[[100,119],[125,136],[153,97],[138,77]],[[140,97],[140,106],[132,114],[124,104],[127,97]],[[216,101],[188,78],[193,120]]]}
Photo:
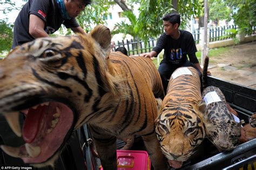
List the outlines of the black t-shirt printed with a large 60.
{"label": "black t-shirt printed with a large 60", "polygon": [[170,35],[165,33],[157,40],[156,47],[153,51],[157,54],[164,49],[164,61],[171,65],[182,65],[187,60],[187,55],[191,63],[199,63],[195,55],[197,52],[196,44],[194,43],[193,35],[185,30],[179,30],[180,37],[173,39]]}

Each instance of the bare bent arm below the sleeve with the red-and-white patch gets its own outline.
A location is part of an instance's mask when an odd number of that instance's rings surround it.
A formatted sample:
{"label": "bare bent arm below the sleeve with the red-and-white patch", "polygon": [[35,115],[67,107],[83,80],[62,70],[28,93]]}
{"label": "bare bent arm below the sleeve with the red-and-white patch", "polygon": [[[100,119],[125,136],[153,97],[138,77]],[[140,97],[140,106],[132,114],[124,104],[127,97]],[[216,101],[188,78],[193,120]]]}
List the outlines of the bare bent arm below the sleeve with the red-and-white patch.
{"label": "bare bent arm below the sleeve with the red-and-white patch", "polygon": [[29,16],[29,33],[34,38],[49,37],[44,31],[44,21],[36,15]]}

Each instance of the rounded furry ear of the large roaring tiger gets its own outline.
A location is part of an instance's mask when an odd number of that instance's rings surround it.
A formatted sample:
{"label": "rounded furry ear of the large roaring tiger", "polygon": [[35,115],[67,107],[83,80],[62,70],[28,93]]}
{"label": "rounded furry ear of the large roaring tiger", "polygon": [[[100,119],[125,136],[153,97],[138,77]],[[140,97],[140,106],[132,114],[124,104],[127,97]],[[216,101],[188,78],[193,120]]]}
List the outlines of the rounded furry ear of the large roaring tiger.
{"label": "rounded furry ear of the large roaring tiger", "polygon": [[103,47],[104,50],[109,50],[111,47],[111,33],[110,29],[104,25],[97,25],[90,35]]}

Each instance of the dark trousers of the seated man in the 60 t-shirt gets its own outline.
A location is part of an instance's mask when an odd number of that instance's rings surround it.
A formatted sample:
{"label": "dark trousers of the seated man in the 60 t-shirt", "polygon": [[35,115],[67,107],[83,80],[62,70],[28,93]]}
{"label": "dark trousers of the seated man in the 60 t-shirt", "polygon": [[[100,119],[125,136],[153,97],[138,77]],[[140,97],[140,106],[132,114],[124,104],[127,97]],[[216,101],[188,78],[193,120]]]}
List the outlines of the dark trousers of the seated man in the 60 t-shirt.
{"label": "dark trousers of the seated man in the 60 t-shirt", "polygon": [[[170,65],[170,63],[168,63],[164,60],[161,61],[159,68],[158,68],[158,72],[160,73],[160,76],[162,79],[165,94],[166,94],[166,89],[168,87],[169,79],[172,76],[172,73],[179,67],[190,67],[190,66],[197,69],[197,67],[193,63],[190,63],[190,61],[188,61],[188,60],[186,60],[186,63],[184,63],[183,65],[179,65],[179,66]],[[197,71],[199,72],[199,76],[201,77],[200,71],[198,69],[197,69]]]}

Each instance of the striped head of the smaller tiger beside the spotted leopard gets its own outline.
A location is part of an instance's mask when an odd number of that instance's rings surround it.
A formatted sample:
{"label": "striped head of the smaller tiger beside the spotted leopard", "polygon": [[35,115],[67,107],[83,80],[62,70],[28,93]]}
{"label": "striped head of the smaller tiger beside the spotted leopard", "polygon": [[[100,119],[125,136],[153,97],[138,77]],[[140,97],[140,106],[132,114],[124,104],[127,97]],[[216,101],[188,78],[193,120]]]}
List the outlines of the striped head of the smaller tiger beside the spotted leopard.
{"label": "striped head of the smaller tiger beside the spotted leopard", "polygon": [[180,168],[205,138],[203,101],[188,105],[169,99],[170,107],[161,106],[156,120],[156,132],[161,151],[174,168]]}

